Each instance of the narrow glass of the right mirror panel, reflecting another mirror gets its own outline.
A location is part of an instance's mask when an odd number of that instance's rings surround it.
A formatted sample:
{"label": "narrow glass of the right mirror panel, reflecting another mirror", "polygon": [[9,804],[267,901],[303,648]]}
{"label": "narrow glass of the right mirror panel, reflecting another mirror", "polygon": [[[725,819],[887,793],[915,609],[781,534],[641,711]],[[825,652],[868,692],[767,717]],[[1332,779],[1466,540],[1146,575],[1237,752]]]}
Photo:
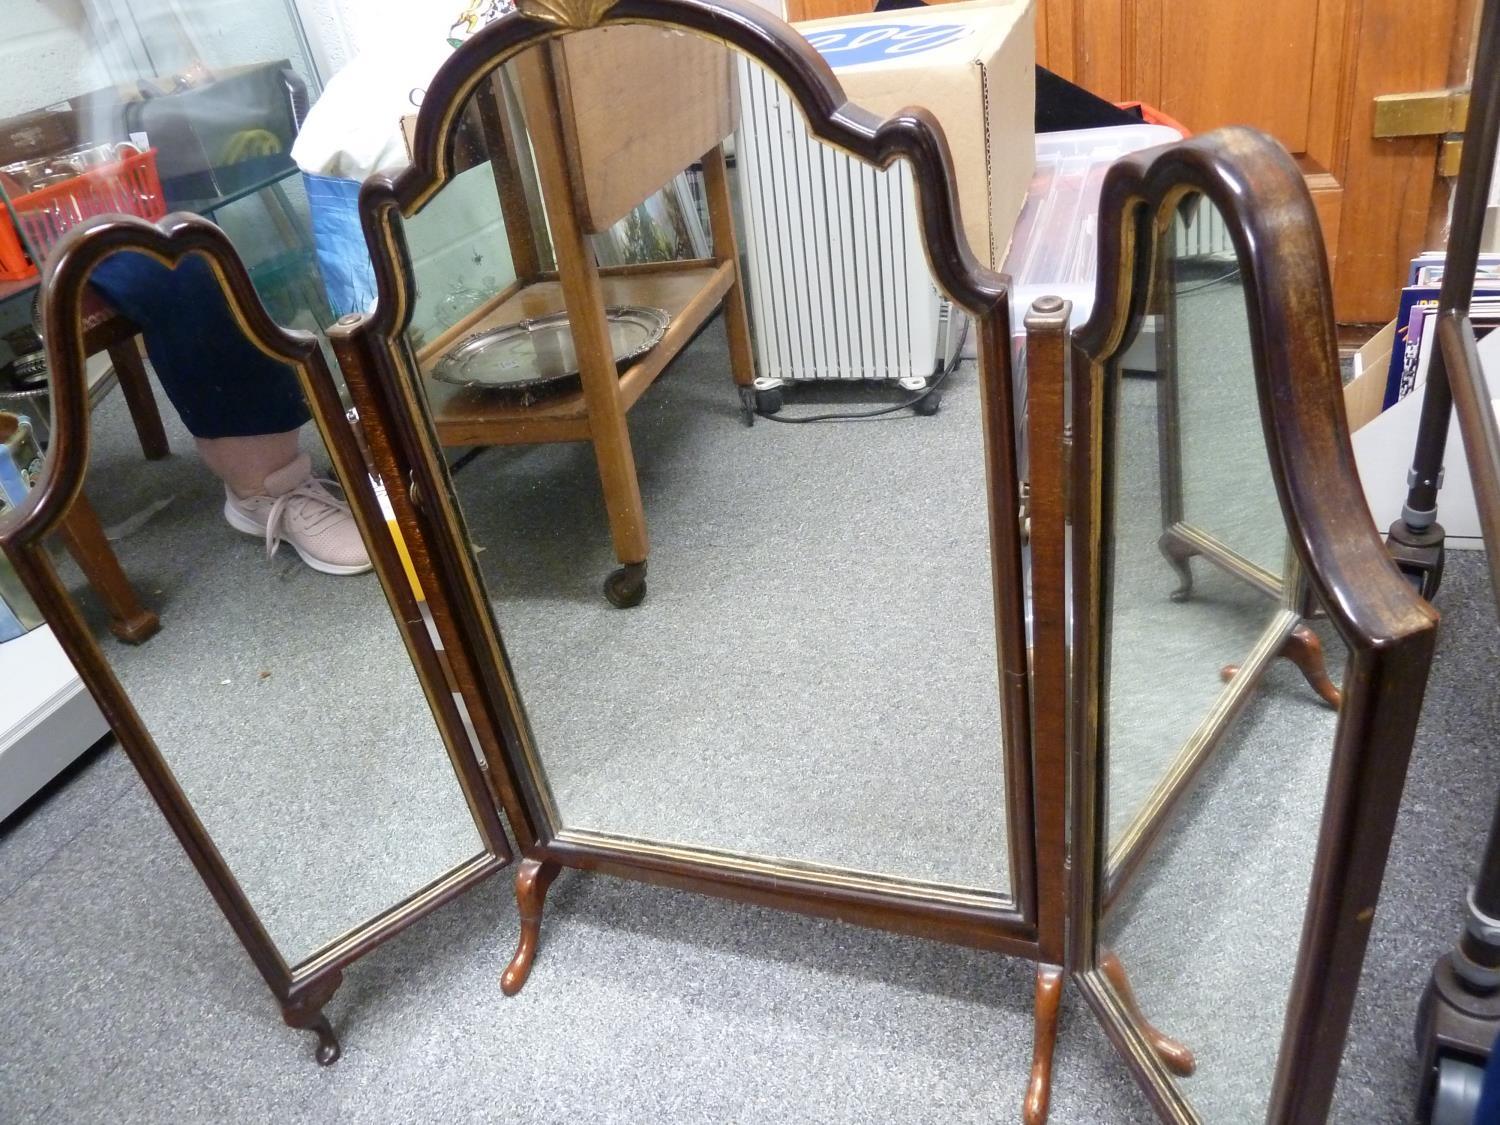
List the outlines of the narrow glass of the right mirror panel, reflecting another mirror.
{"label": "narrow glass of the right mirror panel, reflecting another mirror", "polygon": [[[1222,228],[1208,200],[1190,196],[1182,210]],[[1203,1120],[1264,1118],[1328,783],[1336,711],[1278,652],[1322,664],[1318,634],[1335,664],[1342,652],[1330,632],[1296,616],[1294,566],[1286,597],[1272,600],[1233,561],[1203,555],[1191,592],[1173,597],[1156,530],[1136,526],[1164,477],[1154,422],[1174,417],[1184,452],[1220,460],[1218,492],[1197,477],[1190,510],[1200,504],[1215,530],[1240,530],[1246,546],[1263,534],[1257,558],[1287,558],[1232,266],[1210,284],[1162,252],[1154,291],[1174,306],[1172,378],[1104,380],[1101,741],[1113,864],[1100,962]],[[1166,410],[1173,390],[1178,408]],[[1194,458],[1184,465],[1186,483]]]}

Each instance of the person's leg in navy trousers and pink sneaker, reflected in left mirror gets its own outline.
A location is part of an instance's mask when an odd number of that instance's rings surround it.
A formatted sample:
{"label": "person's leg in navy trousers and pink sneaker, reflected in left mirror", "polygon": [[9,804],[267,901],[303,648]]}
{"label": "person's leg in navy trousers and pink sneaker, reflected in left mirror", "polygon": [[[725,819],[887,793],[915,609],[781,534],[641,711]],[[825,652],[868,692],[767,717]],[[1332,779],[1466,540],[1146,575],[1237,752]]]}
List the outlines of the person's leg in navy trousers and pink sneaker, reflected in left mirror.
{"label": "person's leg in navy trousers and pink sneaker, reflected in left mirror", "polygon": [[208,264],[186,258],[176,270],[118,254],[94,285],[141,328],[166,398],[224,482],[231,526],[286,540],[308,566],[330,574],[369,570],[348,504],[312,476],[297,435],[309,420],[297,375],[250,344]]}

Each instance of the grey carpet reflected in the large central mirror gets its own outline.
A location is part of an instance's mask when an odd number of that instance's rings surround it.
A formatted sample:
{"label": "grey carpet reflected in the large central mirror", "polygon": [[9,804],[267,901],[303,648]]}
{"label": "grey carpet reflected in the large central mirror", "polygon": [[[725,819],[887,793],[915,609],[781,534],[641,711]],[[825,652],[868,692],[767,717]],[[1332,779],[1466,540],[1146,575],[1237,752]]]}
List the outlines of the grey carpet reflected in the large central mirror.
{"label": "grey carpet reflected in the large central mirror", "polygon": [[458,477],[562,822],[1006,890],[972,366],[936,417],[746,428],[716,322],[630,423],[652,548],[627,614],[588,446]]}

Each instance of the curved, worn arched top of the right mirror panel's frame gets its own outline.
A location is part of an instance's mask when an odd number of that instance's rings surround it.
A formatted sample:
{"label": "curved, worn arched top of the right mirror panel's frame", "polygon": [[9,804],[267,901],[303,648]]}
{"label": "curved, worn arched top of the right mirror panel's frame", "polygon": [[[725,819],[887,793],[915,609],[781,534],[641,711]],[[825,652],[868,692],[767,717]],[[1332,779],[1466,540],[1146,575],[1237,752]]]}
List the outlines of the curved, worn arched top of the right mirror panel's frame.
{"label": "curved, worn arched top of the right mirror panel's frame", "polygon": [[1434,610],[1370,520],[1341,398],[1322,228],[1302,172],[1274,140],[1218,129],[1110,170],[1096,297],[1074,332],[1077,348],[1107,368],[1130,344],[1150,300],[1160,232],[1194,194],[1222,214],[1239,260],[1272,476],[1314,591],[1352,642],[1384,645],[1432,628]]}

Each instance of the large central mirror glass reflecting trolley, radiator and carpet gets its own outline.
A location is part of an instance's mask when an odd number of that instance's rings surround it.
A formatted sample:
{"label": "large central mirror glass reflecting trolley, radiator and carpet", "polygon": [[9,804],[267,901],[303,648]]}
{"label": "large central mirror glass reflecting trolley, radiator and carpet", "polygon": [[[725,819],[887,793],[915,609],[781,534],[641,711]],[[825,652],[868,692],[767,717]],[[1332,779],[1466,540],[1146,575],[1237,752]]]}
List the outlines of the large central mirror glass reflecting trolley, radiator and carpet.
{"label": "large central mirror glass reflecting trolley, radiator and carpet", "polygon": [[[504,74],[465,114],[490,159],[404,231],[555,824],[1002,900],[1002,372],[960,356],[910,170],[816,142],[770,72],[690,34],[598,28]],[[572,339],[554,260],[598,276]]]}

